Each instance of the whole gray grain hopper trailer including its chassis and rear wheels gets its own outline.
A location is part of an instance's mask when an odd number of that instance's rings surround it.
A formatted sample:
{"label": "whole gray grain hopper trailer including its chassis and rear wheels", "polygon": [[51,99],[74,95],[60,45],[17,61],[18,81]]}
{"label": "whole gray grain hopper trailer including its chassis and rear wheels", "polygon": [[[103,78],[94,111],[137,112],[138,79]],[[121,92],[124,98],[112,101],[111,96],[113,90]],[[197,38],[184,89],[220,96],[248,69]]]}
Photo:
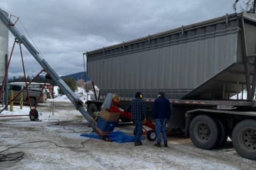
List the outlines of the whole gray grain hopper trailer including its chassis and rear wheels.
{"label": "whole gray grain hopper trailer including its chassis and rear wheels", "polygon": [[242,157],[256,159],[256,15],[225,15],[84,54],[101,94],[117,93],[125,107],[140,91],[150,115],[163,91],[171,134],[184,132],[203,149],[230,136]]}

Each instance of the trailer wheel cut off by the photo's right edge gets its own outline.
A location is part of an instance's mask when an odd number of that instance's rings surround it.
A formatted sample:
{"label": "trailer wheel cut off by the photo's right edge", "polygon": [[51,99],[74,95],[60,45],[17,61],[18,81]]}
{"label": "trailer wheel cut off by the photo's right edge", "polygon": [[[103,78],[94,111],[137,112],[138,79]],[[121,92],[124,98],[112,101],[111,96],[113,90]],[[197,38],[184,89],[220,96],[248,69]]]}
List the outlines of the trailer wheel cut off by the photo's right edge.
{"label": "trailer wheel cut off by the photo's right edge", "polygon": [[242,157],[256,160],[256,120],[240,121],[233,129],[232,143]]}

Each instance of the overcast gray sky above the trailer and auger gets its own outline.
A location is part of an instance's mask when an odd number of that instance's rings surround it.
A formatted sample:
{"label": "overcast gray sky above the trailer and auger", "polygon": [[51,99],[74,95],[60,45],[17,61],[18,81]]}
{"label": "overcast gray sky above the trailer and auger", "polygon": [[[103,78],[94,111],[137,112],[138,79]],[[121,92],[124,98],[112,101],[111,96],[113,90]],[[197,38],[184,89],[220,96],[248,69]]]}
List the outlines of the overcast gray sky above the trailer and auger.
{"label": "overcast gray sky above the trailer and auger", "polygon": [[[233,13],[234,1],[1,0],[0,7],[20,18],[17,26],[23,24],[46,61],[64,76],[83,71],[86,51]],[[10,33],[9,54],[13,42]],[[37,74],[41,66],[23,49],[26,73]],[[9,70],[9,76],[17,75],[22,75],[18,46]]]}

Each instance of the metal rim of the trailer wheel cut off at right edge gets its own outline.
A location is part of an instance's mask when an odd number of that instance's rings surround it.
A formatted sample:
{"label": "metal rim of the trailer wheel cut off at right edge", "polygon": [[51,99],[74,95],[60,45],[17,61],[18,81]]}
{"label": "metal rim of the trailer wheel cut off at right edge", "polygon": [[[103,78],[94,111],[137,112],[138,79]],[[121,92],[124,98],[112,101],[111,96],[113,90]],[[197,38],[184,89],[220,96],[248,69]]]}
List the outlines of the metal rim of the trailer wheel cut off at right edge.
{"label": "metal rim of the trailer wheel cut off at right edge", "polygon": [[241,132],[240,143],[246,150],[256,151],[256,130],[253,128],[246,128]]}

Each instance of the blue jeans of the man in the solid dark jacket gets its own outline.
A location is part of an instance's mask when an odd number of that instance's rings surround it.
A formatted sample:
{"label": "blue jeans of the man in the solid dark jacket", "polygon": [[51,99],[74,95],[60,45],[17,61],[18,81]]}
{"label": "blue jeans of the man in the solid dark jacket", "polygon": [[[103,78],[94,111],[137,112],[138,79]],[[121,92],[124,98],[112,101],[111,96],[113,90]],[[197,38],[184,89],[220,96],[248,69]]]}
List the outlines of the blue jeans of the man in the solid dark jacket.
{"label": "blue jeans of the man in the solid dark jacket", "polygon": [[161,143],[161,132],[163,134],[163,142],[167,142],[165,119],[155,119],[155,131],[157,132],[157,142]]}

